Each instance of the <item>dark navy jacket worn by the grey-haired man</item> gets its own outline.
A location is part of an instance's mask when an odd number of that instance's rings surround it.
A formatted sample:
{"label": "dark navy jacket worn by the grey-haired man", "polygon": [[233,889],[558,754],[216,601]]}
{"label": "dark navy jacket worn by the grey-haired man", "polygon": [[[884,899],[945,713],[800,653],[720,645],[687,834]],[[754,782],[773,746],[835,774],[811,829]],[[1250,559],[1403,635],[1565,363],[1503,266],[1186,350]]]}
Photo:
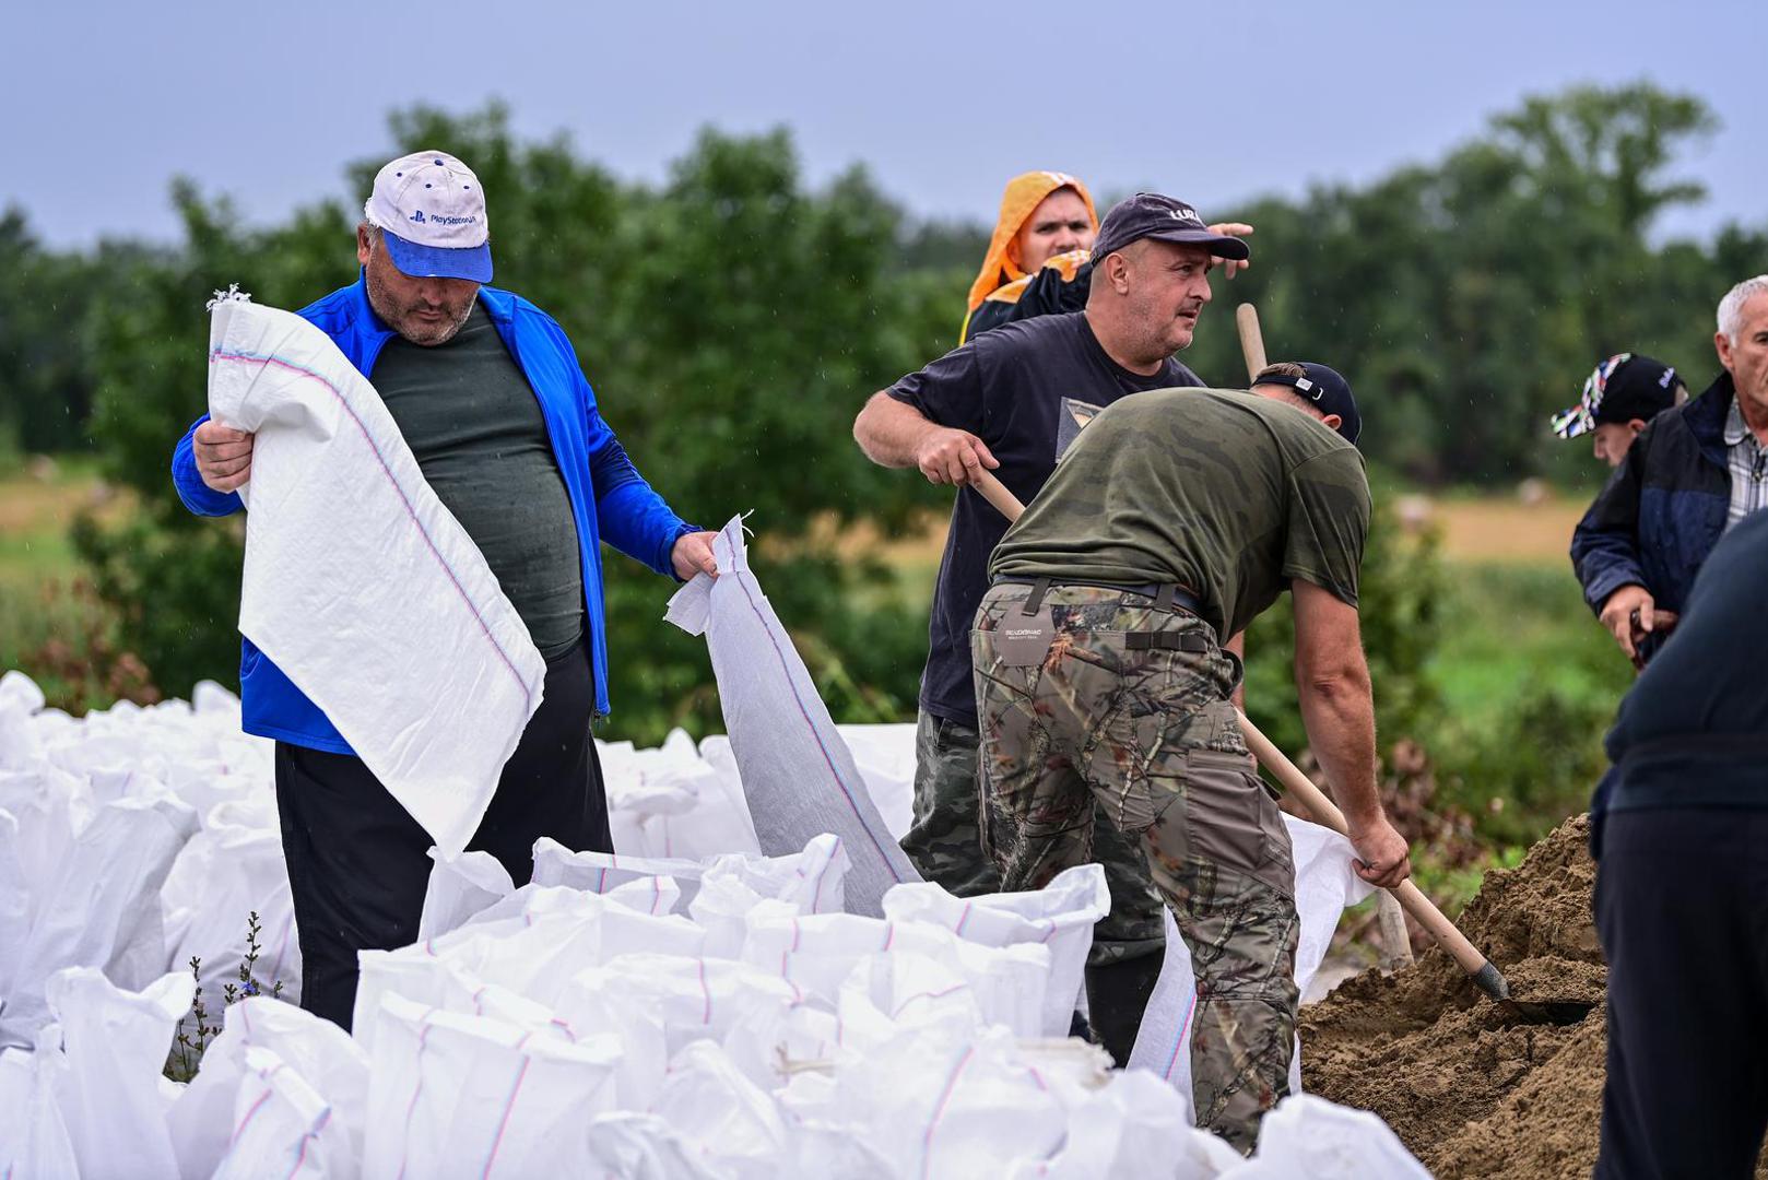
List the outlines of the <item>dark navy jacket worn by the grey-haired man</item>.
{"label": "dark navy jacket worn by the grey-haired man", "polygon": [[1699,398],[1653,418],[1577,524],[1572,568],[1597,614],[1623,586],[1644,586],[1660,610],[1687,605],[1731,511],[1734,396],[1731,373],[1720,373]]}

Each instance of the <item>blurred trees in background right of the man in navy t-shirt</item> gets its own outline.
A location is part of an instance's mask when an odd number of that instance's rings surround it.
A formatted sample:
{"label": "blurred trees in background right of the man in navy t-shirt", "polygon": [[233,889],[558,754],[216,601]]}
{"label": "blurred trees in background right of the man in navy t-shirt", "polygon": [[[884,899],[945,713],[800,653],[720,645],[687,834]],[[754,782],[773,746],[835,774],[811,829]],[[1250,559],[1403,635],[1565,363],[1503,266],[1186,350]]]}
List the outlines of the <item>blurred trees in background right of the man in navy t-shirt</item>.
{"label": "blurred trees in background right of the man in navy t-shirt", "polygon": [[[1273,357],[1326,361],[1365,395],[1376,462],[1427,483],[1589,483],[1588,448],[1547,416],[1623,350],[1699,393],[1720,295],[1768,269],[1768,219],[1658,241],[1667,211],[1704,196],[1676,165],[1715,126],[1648,85],[1526,99],[1430,165],[1220,211],[1257,226],[1232,295],[1257,301]],[[1195,361],[1232,373],[1231,333],[1204,334]]]}

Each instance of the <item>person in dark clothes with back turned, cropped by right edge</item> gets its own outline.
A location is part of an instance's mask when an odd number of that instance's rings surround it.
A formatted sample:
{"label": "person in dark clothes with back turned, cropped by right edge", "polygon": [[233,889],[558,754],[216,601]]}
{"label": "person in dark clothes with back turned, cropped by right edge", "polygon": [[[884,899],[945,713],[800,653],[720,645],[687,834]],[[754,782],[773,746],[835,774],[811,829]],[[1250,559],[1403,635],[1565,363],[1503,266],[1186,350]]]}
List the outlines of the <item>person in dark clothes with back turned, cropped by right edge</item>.
{"label": "person in dark clothes with back turned, cropped by right edge", "polygon": [[[1764,341],[1768,343],[1768,341]],[[1754,1175],[1768,1127],[1768,513],[1713,548],[1607,738],[1598,1180]]]}

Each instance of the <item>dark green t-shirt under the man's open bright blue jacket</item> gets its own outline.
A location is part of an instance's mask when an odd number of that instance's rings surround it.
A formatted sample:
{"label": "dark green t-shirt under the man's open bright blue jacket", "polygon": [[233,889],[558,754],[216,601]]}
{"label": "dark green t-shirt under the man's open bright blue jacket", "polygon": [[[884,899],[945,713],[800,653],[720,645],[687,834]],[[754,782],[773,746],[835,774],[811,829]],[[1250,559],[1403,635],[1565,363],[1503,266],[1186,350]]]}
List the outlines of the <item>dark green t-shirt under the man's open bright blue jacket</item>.
{"label": "dark green t-shirt under the man's open bright blue jacket", "polygon": [[442,345],[394,336],[370,375],[424,479],[548,660],[583,635],[583,564],[541,403],[476,303]]}

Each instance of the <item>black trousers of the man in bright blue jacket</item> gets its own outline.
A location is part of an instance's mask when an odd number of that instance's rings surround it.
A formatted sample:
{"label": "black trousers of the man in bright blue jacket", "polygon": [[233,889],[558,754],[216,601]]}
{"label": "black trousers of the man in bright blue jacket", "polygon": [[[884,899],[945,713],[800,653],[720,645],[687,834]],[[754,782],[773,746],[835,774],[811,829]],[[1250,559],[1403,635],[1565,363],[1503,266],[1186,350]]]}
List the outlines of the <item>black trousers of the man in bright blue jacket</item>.
{"label": "black trousers of the man in bright blue jacket", "polygon": [[[504,764],[469,847],[497,856],[518,886],[534,840],[612,853],[601,764],[591,738],[596,688],[583,642],[546,662],[546,693]],[[417,939],[433,840],[361,759],[276,743],[276,808],[301,936],[301,1007],[350,1028],[359,950]]]}

